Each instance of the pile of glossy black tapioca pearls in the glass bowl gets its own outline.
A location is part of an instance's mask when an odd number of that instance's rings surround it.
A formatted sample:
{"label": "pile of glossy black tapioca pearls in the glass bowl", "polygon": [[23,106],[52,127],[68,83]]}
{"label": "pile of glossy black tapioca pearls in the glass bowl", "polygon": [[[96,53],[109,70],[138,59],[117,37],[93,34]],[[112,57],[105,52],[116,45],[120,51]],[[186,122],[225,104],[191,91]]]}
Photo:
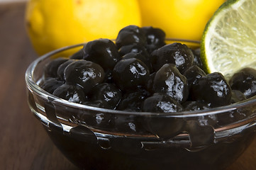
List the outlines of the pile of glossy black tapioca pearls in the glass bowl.
{"label": "pile of glossy black tapioca pearls in the glass bowl", "polygon": [[127,26],[116,42],[87,42],[69,58],[52,60],[40,86],[87,106],[121,111],[176,113],[243,101],[256,94],[256,71],[245,68],[229,81],[206,74],[199,50],[165,43],[159,28]]}

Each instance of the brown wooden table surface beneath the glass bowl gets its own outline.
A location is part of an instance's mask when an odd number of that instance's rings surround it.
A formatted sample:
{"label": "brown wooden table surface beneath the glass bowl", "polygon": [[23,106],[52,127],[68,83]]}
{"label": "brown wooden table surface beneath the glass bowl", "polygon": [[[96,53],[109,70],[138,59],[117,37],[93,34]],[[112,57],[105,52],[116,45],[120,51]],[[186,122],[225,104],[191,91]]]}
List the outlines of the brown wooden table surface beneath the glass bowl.
{"label": "brown wooden table surface beneath the glass bowl", "polygon": [[[0,4],[0,169],[77,170],[52,144],[26,101],[24,74],[38,57],[26,34],[26,4]],[[256,140],[228,170],[256,169]]]}

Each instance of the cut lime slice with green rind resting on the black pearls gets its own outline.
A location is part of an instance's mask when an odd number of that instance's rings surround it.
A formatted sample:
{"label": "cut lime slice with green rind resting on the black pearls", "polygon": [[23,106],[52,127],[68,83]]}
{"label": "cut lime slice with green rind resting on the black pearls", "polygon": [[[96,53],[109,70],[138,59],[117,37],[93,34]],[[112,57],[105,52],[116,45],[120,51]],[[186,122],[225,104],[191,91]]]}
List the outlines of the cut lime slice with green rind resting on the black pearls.
{"label": "cut lime slice with green rind resting on the black pearls", "polygon": [[256,68],[256,0],[228,0],[208,21],[201,39],[206,72],[225,77]]}

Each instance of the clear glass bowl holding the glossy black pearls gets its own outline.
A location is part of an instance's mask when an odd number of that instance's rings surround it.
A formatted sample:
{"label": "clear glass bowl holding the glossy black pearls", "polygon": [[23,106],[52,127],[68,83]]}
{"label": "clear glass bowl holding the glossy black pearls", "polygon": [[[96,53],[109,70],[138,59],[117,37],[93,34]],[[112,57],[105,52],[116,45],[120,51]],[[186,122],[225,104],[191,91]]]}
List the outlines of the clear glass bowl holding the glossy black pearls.
{"label": "clear glass bowl holding the glossy black pearls", "polygon": [[255,98],[205,111],[137,113],[70,103],[41,89],[45,65],[82,45],[43,55],[26,71],[30,110],[79,168],[225,169],[252,142]]}

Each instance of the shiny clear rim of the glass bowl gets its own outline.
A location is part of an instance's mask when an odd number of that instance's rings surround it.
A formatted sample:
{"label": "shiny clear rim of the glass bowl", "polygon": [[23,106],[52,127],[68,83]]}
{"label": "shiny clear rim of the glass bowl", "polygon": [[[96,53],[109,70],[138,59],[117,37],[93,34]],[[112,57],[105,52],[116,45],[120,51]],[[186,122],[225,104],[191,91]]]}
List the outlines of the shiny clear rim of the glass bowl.
{"label": "shiny clear rim of the glass bowl", "polygon": [[[180,41],[180,42],[191,42],[195,44],[199,44],[200,41],[196,40],[181,40],[181,39],[174,39],[174,38],[167,38],[167,41]],[[28,69],[26,70],[25,73],[25,80],[26,80],[26,86],[30,91],[33,91],[34,94],[37,94],[40,97],[43,97],[45,99],[51,98],[51,100],[54,100],[56,104],[60,105],[65,105],[66,107],[71,107],[71,108],[81,108],[81,109],[86,109],[90,111],[99,111],[101,113],[114,113],[114,114],[125,114],[125,115],[157,115],[157,116],[167,116],[167,117],[173,117],[173,118],[187,118],[187,117],[196,117],[196,116],[202,116],[202,115],[213,115],[213,114],[219,114],[219,113],[225,113],[228,111],[234,111],[238,108],[245,108],[250,105],[255,105],[256,104],[256,97],[248,98],[245,101],[241,101],[240,103],[234,103],[228,106],[221,106],[221,107],[216,107],[216,108],[210,108],[207,110],[201,110],[201,111],[182,111],[182,112],[177,112],[177,113],[148,113],[148,112],[128,112],[128,111],[118,111],[118,110],[111,110],[111,109],[106,109],[106,108],[96,108],[92,106],[86,106],[82,105],[79,103],[72,103],[69,101],[66,101],[62,98],[58,98],[56,96],[53,96],[52,94],[49,94],[47,91],[43,90],[38,86],[38,84],[34,81],[33,79],[33,74],[35,71],[35,67],[43,60],[46,58],[57,54],[58,52],[62,52],[65,50],[72,49],[74,47],[79,47],[84,45],[85,43],[79,43],[77,45],[69,45],[67,47],[62,47],[57,50],[53,50],[52,52],[48,52],[45,55],[42,55],[38,57],[36,60],[30,63],[28,66]]]}

